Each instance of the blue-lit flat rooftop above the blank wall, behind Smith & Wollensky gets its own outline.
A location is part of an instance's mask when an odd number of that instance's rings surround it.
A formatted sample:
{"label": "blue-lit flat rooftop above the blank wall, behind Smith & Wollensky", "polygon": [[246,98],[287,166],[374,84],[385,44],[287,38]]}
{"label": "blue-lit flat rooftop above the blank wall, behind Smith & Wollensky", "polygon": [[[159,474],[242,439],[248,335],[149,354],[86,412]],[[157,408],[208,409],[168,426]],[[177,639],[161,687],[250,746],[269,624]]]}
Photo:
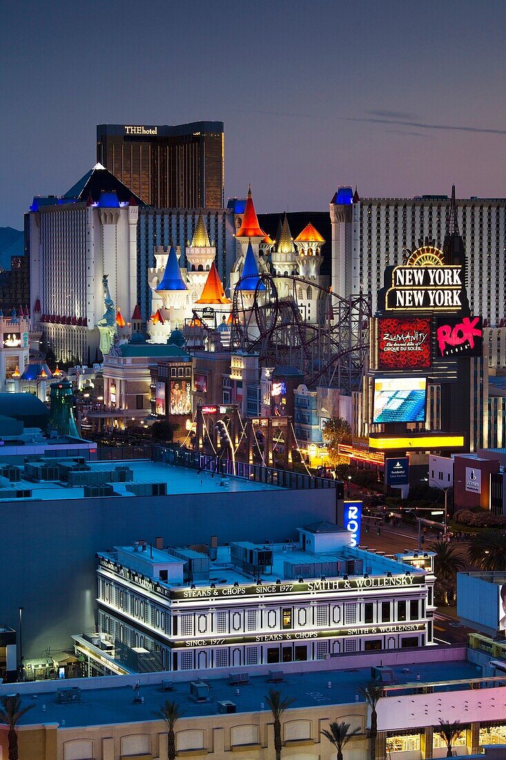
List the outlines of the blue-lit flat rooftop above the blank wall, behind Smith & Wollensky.
{"label": "blue-lit flat rooftop above the blank wall, behind Smith & Wollensky", "polygon": [[[134,471],[133,483],[166,483],[167,495],[174,494],[203,494],[203,493],[226,493],[242,491],[279,491],[279,486],[266,485],[264,483],[255,483],[253,480],[245,480],[239,477],[226,477],[226,486],[221,485],[223,477],[216,474],[214,477],[211,473],[202,470],[191,470],[188,467],[179,467],[176,464],[164,464],[163,462],[153,462],[149,460],[134,461],[109,461],[109,462],[87,462],[92,471],[96,470],[114,470],[115,467],[128,466]],[[134,496],[128,491],[130,483],[113,483],[113,488],[118,496]],[[43,481],[34,483],[32,480],[24,479],[16,483],[11,483],[13,489],[31,489],[32,499],[42,499],[43,501],[59,499],[84,499],[84,486],[68,486],[66,483],[52,483]],[[97,498],[97,497],[93,497]],[[109,496],[109,499],[115,497]],[[142,498],[142,497],[140,497]],[[11,502],[14,499],[5,499]],[[2,502],[2,499],[0,499]]]}

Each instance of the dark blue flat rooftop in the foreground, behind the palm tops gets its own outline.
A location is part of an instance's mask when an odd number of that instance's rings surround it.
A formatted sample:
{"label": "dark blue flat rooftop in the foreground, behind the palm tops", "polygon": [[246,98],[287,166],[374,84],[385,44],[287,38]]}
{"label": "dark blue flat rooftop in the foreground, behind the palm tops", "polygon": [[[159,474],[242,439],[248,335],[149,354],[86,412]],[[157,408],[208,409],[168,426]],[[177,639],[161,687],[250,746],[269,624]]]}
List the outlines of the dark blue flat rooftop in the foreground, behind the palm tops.
{"label": "dark blue flat rooftop in the foreground, behind the palm tops", "polygon": [[[378,653],[378,663],[381,652]],[[280,665],[273,666],[273,670],[283,670]],[[481,678],[482,670],[475,664],[466,660],[441,661],[432,663],[414,664],[404,667],[394,667],[394,679],[398,685],[410,684],[413,689],[419,689],[427,683],[441,683],[441,673],[444,673],[445,682],[462,681],[458,689],[469,688],[470,679]],[[408,672],[404,672],[408,670]],[[171,673],[163,674],[170,679]],[[132,723],[136,721],[156,720],[153,711],[157,711],[167,699],[179,703],[185,711],[184,717],[198,717],[218,714],[217,702],[223,700],[232,701],[237,706],[238,713],[256,712],[260,710],[261,703],[265,705],[265,695],[272,683],[268,682],[268,676],[251,676],[246,686],[231,686],[228,681],[228,671],[223,678],[212,679],[210,683],[210,701],[195,702],[190,698],[190,681],[198,680],[198,673],[185,682],[174,682],[172,692],[163,692],[160,682],[141,686],[140,695],[144,697],[144,704],[133,702],[134,693],[131,686],[118,686],[102,689],[83,689],[81,701],[60,705],[57,699],[56,689],[64,689],[65,681],[55,681],[54,692],[41,693],[33,689],[33,692],[25,692],[22,695],[23,705],[33,705],[33,708],[25,714],[21,725],[39,723],[62,723],[65,727],[98,726],[104,724]],[[122,676],[117,676],[123,680]],[[294,708],[313,708],[321,705],[346,705],[363,702],[360,686],[365,686],[371,678],[370,667],[362,667],[353,670],[318,670],[316,672],[286,673],[283,682],[274,685],[283,695],[294,697]],[[83,679],[84,682],[89,679]],[[99,680],[99,679],[96,679]],[[502,679],[499,679],[502,681]],[[128,682],[133,682],[129,677]],[[330,682],[330,689],[328,683]],[[506,682],[506,677],[504,678]],[[44,683],[44,682],[43,682]],[[47,682],[45,682],[47,683]],[[74,679],[72,686],[79,683]],[[70,684],[69,684],[70,685]],[[498,683],[495,684],[497,686]],[[34,685],[35,686],[35,685]],[[12,688],[12,687],[11,687]],[[452,687],[444,684],[443,689]],[[236,690],[239,689],[239,695]],[[393,694],[394,703],[397,704]],[[43,711],[43,705],[46,709]],[[267,705],[265,706],[267,711]]]}

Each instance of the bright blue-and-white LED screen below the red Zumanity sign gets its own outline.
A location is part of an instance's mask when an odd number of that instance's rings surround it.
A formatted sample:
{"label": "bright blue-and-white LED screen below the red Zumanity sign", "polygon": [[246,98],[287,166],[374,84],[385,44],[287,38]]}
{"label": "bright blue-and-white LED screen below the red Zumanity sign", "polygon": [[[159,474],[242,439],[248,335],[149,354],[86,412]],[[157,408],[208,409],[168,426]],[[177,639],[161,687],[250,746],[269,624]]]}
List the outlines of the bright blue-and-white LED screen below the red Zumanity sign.
{"label": "bright blue-and-white LED screen below the red Zumanity sign", "polygon": [[373,423],[422,423],[427,378],[375,378]]}

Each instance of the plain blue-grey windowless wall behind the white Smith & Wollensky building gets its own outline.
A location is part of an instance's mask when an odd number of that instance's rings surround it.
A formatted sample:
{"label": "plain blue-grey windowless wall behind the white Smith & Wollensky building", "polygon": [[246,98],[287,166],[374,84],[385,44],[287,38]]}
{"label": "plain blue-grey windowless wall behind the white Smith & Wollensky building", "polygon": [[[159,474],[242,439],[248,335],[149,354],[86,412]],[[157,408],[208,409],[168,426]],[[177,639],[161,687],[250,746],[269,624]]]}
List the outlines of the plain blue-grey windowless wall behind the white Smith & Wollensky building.
{"label": "plain blue-grey windowless wall behind the white Smith & Wollensky building", "polygon": [[[197,489],[198,475],[195,475]],[[217,488],[217,491],[219,489]],[[95,553],[138,539],[164,545],[297,537],[296,528],[335,521],[334,489],[112,497],[67,502],[3,502],[2,622],[15,628],[24,606],[23,653],[68,648],[95,629]],[[188,526],[192,526],[188,530]]]}

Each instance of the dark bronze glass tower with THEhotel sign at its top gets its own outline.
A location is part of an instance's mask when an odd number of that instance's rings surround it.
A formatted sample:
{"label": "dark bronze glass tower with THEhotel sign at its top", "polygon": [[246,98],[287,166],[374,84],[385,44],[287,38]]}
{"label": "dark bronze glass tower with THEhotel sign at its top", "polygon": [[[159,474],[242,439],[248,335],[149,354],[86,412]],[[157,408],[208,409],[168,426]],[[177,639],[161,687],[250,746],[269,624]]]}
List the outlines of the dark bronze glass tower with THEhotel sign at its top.
{"label": "dark bronze glass tower with THEhotel sign at its top", "polygon": [[150,206],[223,208],[223,122],[99,124],[96,160]]}

